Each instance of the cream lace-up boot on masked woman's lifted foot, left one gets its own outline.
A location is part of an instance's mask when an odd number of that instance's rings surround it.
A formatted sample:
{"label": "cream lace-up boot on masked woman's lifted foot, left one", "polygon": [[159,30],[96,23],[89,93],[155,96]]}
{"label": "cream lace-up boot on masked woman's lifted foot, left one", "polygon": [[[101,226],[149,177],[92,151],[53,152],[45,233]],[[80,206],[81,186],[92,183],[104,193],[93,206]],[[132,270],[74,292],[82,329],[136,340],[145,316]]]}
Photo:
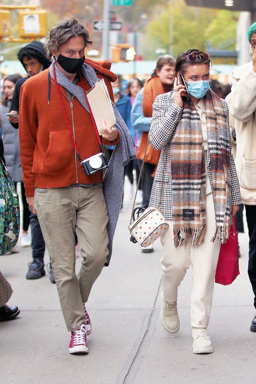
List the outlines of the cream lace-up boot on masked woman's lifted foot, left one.
{"label": "cream lace-up boot on masked woman's lifted foot, left one", "polygon": [[163,292],[161,293],[161,312],[160,319],[165,331],[175,334],[180,329],[180,319],[177,311],[177,300],[169,303],[164,298]]}

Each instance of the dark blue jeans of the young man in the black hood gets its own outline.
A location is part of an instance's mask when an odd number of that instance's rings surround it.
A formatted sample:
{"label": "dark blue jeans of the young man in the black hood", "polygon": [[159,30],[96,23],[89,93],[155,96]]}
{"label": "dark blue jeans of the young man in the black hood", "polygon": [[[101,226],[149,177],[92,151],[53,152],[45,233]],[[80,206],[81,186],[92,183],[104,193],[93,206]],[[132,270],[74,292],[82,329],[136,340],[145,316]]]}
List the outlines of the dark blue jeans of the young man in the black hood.
{"label": "dark blue jeans of the young man in the black hood", "polygon": [[[31,212],[31,211],[30,211]],[[45,255],[45,240],[36,214],[30,215],[31,248],[33,259],[40,259],[43,263]]]}

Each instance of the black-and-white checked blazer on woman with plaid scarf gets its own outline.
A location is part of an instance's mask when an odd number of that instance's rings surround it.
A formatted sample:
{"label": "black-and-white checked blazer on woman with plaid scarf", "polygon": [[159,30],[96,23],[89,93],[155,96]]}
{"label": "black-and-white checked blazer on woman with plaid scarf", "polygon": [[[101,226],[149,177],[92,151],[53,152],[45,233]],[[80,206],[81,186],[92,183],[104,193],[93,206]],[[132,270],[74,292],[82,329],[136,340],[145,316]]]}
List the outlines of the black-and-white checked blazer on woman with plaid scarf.
{"label": "black-and-white checked blazer on woman with plaid scarf", "polygon": [[[228,118],[228,106],[221,99]],[[155,178],[150,196],[150,207],[159,206],[162,175],[164,172],[164,185],[162,193],[161,212],[165,220],[172,220],[172,177],[171,177],[171,140],[175,134],[178,121],[182,116],[183,108],[174,104],[173,91],[156,97],[153,104],[152,122],[149,131],[149,142],[154,149],[162,149],[159,163],[155,172]],[[229,121],[228,121],[229,126]],[[230,131],[229,131],[230,135]],[[167,146],[166,162],[164,166],[164,148]],[[236,174],[235,162],[231,154],[230,136],[230,177],[231,177],[231,202],[232,205],[241,204],[240,187]],[[210,152],[207,147],[207,168],[211,169]],[[212,185],[211,172],[208,172]]]}

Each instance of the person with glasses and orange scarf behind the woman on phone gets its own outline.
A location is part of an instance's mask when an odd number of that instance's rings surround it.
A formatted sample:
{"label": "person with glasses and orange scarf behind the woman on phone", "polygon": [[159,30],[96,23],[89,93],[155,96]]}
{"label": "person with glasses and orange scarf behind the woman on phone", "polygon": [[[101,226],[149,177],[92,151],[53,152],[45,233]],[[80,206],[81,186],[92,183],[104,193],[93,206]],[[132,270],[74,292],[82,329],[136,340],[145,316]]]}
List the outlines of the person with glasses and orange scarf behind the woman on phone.
{"label": "person with glasses and orange scarf behind the woman on phone", "polygon": [[[157,60],[157,66],[151,75],[151,78],[145,83],[134,100],[131,111],[131,123],[137,131],[138,150],[137,159],[139,159],[139,168],[144,157],[147,139],[152,120],[152,105],[156,96],[162,93],[170,92],[173,89],[173,70],[175,60],[172,56],[160,56]],[[156,151],[150,144],[147,148],[145,163],[141,175],[142,189],[142,207],[149,206],[151,189],[154,181],[155,168],[158,164],[161,151]],[[153,245],[141,247],[142,253],[153,252]]]}

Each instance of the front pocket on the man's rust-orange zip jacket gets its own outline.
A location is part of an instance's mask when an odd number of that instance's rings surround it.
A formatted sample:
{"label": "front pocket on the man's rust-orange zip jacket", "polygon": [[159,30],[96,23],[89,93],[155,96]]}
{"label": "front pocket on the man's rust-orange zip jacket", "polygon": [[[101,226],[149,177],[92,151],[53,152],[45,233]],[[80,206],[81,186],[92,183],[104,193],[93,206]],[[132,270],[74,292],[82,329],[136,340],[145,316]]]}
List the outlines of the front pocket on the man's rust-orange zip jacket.
{"label": "front pocket on the man's rust-orange zip jacket", "polygon": [[75,166],[74,145],[68,129],[50,132],[43,160],[45,170],[48,172],[60,172]]}

